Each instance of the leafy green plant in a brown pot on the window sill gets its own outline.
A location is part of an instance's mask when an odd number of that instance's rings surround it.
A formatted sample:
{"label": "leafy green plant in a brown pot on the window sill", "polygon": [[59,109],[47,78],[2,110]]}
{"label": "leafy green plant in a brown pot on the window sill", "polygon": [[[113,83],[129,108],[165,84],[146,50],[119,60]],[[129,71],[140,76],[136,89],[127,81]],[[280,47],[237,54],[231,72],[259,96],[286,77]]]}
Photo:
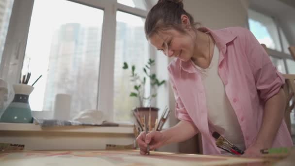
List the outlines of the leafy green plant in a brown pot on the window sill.
{"label": "leafy green plant in a brown pot on the window sill", "polygon": [[[160,87],[165,83],[165,80],[159,80],[155,73],[151,72],[152,66],[155,65],[155,60],[148,59],[148,64],[143,67],[144,75],[140,76],[136,72],[136,67],[129,65],[124,62],[123,69],[131,69],[131,83],[133,85],[134,91],[131,91],[130,97],[135,97],[139,100],[139,107],[133,109],[133,111],[137,114],[140,118],[146,116],[146,118],[151,116],[151,119],[147,119],[148,123],[151,124],[151,127],[154,127],[155,120],[158,117],[158,108],[151,107],[151,100],[157,97],[157,92],[155,91],[157,87]],[[147,79],[149,79],[150,84],[150,94],[147,95],[145,91],[145,85],[147,83]],[[141,120],[141,119],[140,119]]]}

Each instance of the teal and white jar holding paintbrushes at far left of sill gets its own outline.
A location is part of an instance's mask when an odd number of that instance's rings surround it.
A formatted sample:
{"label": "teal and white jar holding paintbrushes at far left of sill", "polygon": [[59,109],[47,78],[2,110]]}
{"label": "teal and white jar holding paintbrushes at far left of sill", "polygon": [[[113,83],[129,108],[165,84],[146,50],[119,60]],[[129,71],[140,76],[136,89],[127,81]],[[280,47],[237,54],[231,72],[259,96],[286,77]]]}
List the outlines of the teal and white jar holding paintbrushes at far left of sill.
{"label": "teal and white jar holding paintbrushes at far left of sill", "polygon": [[29,95],[34,87],[27,84],[14,84],[14,100],[8,105],[0,117],[0,122],[33,123]]}

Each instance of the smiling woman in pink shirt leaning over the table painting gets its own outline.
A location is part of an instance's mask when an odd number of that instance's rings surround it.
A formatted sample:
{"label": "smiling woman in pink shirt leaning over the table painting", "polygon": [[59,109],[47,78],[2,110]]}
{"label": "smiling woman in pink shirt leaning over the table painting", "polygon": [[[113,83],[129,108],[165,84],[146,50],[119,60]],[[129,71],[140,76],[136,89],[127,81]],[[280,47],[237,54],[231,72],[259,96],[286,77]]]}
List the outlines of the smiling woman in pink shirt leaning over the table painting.
{"label": "smiling woman in pink shirt leaning over the table painting", "polygon": [[137,137],[140,154],[202,134],[204,154],[229,154],[216,147],[218,132],[245,155],[292,146],[283,120],[284,78],[245,28],[196,28],[182,0],[159,0],[145,23],[148,41],[168,57],[170,83],[180,122]]}

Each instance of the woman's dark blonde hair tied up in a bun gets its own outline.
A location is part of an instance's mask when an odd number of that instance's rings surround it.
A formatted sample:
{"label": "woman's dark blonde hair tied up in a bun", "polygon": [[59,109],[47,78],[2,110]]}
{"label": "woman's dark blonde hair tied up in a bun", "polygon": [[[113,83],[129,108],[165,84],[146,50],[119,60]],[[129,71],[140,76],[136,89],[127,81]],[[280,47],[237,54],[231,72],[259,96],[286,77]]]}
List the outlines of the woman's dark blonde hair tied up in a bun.
{"label": "woman's dark blonde hair tied up in a bun", "polygon": [[186,15],[192,28],[196,28],[194,18],[183,9],[182,0],[159,0],[148,12],[145,22],[146,37],[149,38],[159,30],[175,29],[185,33],[181,24],[181,15]]}

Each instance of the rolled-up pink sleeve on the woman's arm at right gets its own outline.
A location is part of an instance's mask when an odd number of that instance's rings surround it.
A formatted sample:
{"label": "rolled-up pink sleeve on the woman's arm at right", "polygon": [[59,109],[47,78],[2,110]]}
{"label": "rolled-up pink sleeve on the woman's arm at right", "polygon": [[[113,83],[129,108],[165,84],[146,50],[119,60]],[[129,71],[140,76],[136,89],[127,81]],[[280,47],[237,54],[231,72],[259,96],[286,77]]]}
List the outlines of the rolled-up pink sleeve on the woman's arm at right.
{"label": "rolled-up pink sleeve on the woman's arm at right", "polygon": [[279,93],[285,83],[284,77],[272,64],[269,55],[260,45],[255,36],[245,30],[246,55],[254,75],[256,89],[259,97],[266,102],[269,98]]}

